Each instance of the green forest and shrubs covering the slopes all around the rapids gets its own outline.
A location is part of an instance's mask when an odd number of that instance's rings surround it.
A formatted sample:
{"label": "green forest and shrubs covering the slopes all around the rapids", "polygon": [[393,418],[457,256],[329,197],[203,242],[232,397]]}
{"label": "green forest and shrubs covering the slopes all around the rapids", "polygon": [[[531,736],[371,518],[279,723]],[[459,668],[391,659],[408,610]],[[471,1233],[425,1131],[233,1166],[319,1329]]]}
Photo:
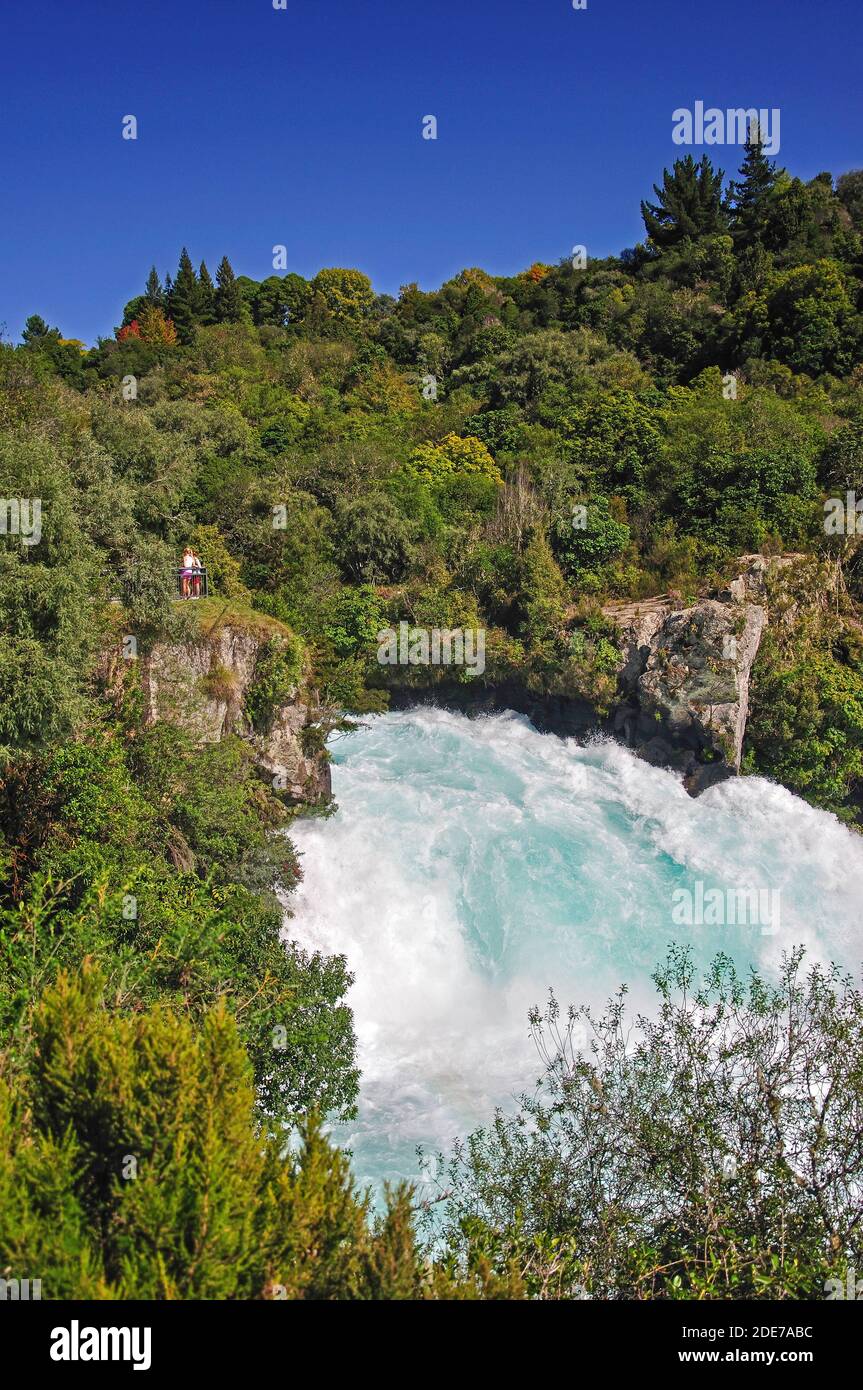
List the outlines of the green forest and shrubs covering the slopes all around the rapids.
{"label": "green forest and shrubs covering the slopes all around the rapids", "polygon": [[[853,520],[863,498],[863,172],[803,182],[750,145],[731,181],[680,160],[642,215],[620,256],[397,300],[349,268],[253,281],[225,256],[213,279],[183,250],[142,268],[94,348],[38,313],[0,345],[0,493],[39,500],[39,535],[7,509],[0,537],[0,1275],[36,1251],[46,1297],[552,1297],[591,1270],[603,1295],[794,1297],[838,1258],[839,1215],[775,1155],[757,1261],[745,1184],[705,1255],[698,1165],[678,1209],[632,1215],[630,1240],[621,1205],[592,1252],[580,1190],[564,1258],[528,1180],[543,1145],[514,1154],[504,1129],[454,1165],[443,1262],[421,1259],[409,1194],[375,1226],[315,1119],[357,1094],[346,965],[279,940],[296,806],[242,739],[143,719],[136,657],[203,620],[175,598],[186,543],[208,616],[264,634],[264,723],[297,682],[385,709],[377,634],[402,620],[485,628],[486,685],[600,701],[605,600],[687,600],[743,553],[805,552],[838,591],[764,641],[745,769],[859,820],[863,569],[824,505],[853,493]],[[825,1047],[859,1012],[830,988],[800,1004]],[[771,1264],[785,1202],[794,1270]]]}

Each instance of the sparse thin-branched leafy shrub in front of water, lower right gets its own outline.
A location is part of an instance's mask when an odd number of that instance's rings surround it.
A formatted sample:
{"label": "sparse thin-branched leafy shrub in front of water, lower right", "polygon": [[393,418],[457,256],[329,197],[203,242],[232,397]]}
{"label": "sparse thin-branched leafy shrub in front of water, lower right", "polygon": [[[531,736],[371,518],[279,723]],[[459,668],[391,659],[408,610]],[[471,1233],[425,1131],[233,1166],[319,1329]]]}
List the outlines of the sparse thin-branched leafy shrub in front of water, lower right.
{"label": "sparse thin-branched leafy shrub in front of water, lower right", "polygon": [[802,952],[770,984],[673,949],[655,981],[636,1020],[625,988],[532,1011],[542,1083],[442,1166],[438,1240],[535,1298],[823,1298],[863,1259],[860,991]]}

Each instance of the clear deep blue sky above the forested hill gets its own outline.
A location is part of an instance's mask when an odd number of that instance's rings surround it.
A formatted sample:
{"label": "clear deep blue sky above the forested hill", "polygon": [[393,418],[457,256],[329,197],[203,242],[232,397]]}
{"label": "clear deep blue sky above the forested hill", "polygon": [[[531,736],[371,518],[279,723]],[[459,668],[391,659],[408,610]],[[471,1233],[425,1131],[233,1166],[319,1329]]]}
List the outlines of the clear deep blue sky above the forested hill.
{"label": "clear deep blue sky above the forested hill", "polygon": [[[0,324],[94,342],[151,263],[356,265],[378,291],[642,236],[671,111],[782,113],[863,165],[859,0],[1,0]],[[121,121],[138,117],[138,140]],[[421,139],[434,114],[436,142]],[[699,153],[698,150],[695,152]],[[728,172],[737,149],[710,152]]]}

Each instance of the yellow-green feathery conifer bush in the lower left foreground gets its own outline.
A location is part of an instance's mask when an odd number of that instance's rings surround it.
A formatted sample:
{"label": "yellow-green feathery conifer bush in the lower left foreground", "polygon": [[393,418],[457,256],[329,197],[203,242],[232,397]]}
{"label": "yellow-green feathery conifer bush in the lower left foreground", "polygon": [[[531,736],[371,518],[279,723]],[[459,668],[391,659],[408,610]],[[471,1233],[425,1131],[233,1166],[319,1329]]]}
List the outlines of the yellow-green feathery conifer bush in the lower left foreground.
{"label": "yellow-green feathery conifer bush in the lower left foreground", "polygon": [[0,1268],[53,1298],[421,1295],[409,1190],[375,1229],[314,1119],[296,1150],[261,1127],[224,1005],[196,1029],[104,992],[90,965],[61,974],[0,1077]]}

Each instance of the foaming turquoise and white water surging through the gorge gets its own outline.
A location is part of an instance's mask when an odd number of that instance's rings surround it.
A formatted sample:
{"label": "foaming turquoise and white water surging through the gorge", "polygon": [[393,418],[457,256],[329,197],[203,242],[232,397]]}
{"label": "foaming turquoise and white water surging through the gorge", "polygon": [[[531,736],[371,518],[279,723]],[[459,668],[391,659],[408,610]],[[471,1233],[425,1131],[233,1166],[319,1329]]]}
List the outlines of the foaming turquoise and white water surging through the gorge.
{"label": "foaming turquoise and white water surging through the gorge", "polygon": [[[340,1133],[363,1180],[418,1176],[531,1087],[527,1012],[549,987],[650,1008],[668,942],[774,969],[802,942],[856,969],[863,840],[762,778],[693,801],[627,749],[516,714],[414,709],[338,735],[331,820],[292,831],[304,881],[285,934],[346,955],[363,1086]],[[775,924],[678,926],[675,890],[778,890]],[[734,916],[734,913],[731,913]]]}

